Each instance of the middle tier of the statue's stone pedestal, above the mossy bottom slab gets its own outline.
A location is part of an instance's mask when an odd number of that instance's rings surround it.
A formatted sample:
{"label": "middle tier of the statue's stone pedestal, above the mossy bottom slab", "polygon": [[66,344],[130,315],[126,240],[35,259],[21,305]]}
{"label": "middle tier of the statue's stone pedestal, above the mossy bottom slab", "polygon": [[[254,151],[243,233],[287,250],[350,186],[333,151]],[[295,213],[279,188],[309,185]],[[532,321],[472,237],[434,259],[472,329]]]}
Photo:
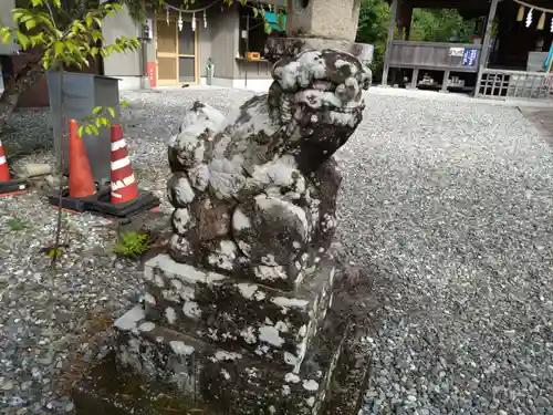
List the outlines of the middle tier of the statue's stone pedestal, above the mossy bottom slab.
{"label": "middle tier of the statue's stone pedestal, above the mossy bottom slab", "polygon": [[118,370],[237,414],[316,415],[345,342],[346,324],[328,314],[296,373],[147,321],[139,307],[116,322]]}

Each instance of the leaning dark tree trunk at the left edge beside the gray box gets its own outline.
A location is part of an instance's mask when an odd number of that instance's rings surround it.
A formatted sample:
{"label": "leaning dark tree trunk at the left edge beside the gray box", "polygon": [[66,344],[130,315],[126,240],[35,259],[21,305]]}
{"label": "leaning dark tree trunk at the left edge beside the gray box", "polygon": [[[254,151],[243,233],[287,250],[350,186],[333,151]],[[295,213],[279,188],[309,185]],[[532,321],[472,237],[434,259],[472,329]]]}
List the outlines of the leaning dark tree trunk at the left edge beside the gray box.
{"label": "leaning dark tree trunk at the left edge beside the gray box", "polygon": [[4,85],[3,93],[0,96],[0,134],[18,105],[21,94],[39,81],[44,75],[44,72],[41,59],[34,58],[25,63]]}

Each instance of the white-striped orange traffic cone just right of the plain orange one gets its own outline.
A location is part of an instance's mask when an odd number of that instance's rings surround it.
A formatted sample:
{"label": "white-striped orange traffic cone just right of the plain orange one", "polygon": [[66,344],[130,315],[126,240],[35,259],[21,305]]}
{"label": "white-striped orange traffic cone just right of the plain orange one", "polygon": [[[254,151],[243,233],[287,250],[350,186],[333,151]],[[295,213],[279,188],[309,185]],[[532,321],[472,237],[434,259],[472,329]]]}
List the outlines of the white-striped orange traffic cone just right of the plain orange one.
{"label": "white-striped orange traffic cone just right of the plain orange one", "polygon": [[112,204],[124,204],[138,197],[138,185],[128,158],[127,144],[119,124],[112,125]]}

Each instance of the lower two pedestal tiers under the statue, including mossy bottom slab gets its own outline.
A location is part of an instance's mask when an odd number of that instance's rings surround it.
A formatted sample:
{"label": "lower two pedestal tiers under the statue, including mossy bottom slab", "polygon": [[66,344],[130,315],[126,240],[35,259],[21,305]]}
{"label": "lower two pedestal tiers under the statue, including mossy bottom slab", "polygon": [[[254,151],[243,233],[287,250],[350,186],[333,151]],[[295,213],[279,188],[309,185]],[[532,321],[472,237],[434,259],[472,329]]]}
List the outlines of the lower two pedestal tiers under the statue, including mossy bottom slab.
{"label": "lower two pedestal tiers under the statue, including mossy bottom slab", "polygon": [[116,353],[75,385],[75,415],[357,415],[371,373],[369,307],[363,289],[336,295],[298,374],[158,328],[135,308],[117,322]]}

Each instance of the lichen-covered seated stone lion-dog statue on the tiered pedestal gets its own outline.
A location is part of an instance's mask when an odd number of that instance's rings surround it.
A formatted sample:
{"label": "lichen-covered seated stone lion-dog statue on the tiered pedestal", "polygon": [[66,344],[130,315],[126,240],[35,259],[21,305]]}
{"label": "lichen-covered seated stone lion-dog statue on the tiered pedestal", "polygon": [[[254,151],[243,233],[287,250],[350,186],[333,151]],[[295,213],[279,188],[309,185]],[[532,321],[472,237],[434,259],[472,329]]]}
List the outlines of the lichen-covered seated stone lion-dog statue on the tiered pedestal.
{"label": "lichen-covered seated stone lion-dog statue on the tiered pedestal", "polygon": [[[292,289],[332,240],[333,154],[362,121],[371,71],[334,51],[279,61],[269,93],[225,117],[196,102],[169,144],[171,257]],[[270,281],[269,281],[270,280]]]}

